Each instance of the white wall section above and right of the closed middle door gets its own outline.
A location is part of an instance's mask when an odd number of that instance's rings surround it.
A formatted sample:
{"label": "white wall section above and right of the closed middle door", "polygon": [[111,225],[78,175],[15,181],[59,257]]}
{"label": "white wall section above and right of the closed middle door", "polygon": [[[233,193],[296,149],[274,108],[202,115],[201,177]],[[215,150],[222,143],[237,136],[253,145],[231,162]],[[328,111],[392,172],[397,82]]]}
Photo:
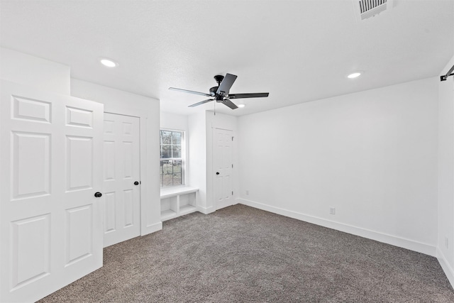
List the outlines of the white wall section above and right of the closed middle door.
{"label": "white wall section above and right of the closed middle door", "polygon": [[140,233],[162,229],[159,182],[159,100],[71,79],[71,94],[104,104],[104,111],[140,118]]}

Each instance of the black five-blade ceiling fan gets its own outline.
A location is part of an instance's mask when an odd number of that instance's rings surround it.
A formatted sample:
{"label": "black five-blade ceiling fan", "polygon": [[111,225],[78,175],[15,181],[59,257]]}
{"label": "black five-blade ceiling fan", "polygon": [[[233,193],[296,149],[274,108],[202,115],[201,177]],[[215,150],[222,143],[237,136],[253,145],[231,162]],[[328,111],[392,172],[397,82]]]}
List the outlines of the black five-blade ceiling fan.
{"label": "black five-blade ceiling fan", "polygon": [[221,75],[214,76],[216,82],[218,82],[217,87],[211,87],[209,93],[206,94],[204,92],[194,92],[189,91],[187,89],[177,89],[175,87],[169,87],[170,90],[177,91],[177,92],[187,92],[189,94],[199,94],[201,96],[211,97],[211,99],[206,99],[204,101],[197,102],[196,104],[189,105],[189,107],[198,106],[201,104],[205,104],[209,101],[214,101],[218,103],[222,103],[231,109],[238,109],[238,106],[234,104],[230,99],[240,99],[240,98],[261,98],[261,97],[268,97],[269,93],[267,92],[260,92],[260,93],[250,93],[250,94],[230,94],[230,88],[233,85],[233,82],[236,80],[236,75],[227,74],[226,77]]}

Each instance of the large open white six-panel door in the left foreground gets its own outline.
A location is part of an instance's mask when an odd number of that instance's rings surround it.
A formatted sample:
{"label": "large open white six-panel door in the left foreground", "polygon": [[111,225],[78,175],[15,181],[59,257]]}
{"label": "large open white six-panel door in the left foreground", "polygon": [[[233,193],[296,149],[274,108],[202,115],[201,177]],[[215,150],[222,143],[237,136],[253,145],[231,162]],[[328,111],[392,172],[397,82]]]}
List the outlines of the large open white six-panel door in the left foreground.
{"label": "large open white six-panel door in the left foreground", "polygon": [[1,82],[0,302],[102,266],[103,104]]}

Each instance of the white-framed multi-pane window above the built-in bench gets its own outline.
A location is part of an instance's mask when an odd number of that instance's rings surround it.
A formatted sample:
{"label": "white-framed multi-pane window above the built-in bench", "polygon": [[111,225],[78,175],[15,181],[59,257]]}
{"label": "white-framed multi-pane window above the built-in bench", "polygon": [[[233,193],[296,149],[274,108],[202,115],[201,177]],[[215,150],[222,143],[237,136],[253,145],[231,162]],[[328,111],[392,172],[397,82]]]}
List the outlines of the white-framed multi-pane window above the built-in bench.
{"label": "white-framed multi-pane window above the built-in bench", "polygon": [[161,130],[161,187],[184,184],[182,143],[184,132]]}

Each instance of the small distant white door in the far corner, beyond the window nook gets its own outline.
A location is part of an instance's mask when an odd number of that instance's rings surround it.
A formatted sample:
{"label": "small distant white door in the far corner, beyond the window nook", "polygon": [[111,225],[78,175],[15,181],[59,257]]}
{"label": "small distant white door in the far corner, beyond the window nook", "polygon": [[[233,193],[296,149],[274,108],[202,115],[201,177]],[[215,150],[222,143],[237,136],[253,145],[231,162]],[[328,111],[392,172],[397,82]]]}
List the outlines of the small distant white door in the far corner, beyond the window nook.
{"label": "small distant white door in the far corner, beyond the window nook", "polygon": [[216,128],[214,148],[216,209],[233,204],[233,131]]}

